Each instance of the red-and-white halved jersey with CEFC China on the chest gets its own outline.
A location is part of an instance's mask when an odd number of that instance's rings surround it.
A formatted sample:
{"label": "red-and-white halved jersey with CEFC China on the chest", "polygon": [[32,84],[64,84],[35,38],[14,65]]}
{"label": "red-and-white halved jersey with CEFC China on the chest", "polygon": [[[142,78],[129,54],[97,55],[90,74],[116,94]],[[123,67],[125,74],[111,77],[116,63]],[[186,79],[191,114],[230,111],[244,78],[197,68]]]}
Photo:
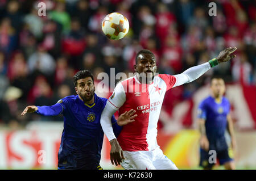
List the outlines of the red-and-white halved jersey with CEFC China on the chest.
{"label": "red-and-white halved jersey with CEFC China on the chest", "polygon": [[123,126],[117,140],[125,151],[154,150],[158,147],[157,123],[167,90],[176,83],[176,77],[159,74],[153,82],[142,84],[137,76],[119,82],[115,87],[108,104],[119,115],[131,109],[136,110],[135,121]]}

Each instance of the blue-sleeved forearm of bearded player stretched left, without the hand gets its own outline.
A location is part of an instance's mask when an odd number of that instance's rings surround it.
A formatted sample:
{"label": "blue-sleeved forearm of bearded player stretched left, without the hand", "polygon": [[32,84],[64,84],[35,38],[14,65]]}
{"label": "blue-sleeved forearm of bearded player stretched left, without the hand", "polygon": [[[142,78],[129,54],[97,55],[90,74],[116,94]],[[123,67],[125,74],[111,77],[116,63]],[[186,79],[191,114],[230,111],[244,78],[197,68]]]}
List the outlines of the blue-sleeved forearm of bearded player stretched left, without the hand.
{"label": "blue-sleeved forearm of bearded player stretched left, without the hand", "polygon": [[36,106],[38,110],[35,113],[39,113],[44,116],[57,116],[63,112],[63,107],[60,104],[54,104],[53,106]]}

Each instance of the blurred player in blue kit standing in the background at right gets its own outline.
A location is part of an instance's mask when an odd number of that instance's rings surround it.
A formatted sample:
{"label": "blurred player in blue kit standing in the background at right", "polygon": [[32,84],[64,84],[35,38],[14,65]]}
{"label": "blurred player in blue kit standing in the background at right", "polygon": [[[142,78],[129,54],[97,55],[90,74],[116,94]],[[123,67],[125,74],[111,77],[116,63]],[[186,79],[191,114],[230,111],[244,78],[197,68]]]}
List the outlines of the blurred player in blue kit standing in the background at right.
{"label": "blurred player in blue kit standing in the background at right", "polygon": [[[210,89],[212,95],[204,99],[198,108],[201,133],[200,166],[204,169],[212,169],[218,159],[225,169],[235,169],[233,151],[236,148],[236,140],[229,100],[223,96],[224,80],[218,77],[212,78]],[[216,153],[216,159],[214,159],[214,153]]]}

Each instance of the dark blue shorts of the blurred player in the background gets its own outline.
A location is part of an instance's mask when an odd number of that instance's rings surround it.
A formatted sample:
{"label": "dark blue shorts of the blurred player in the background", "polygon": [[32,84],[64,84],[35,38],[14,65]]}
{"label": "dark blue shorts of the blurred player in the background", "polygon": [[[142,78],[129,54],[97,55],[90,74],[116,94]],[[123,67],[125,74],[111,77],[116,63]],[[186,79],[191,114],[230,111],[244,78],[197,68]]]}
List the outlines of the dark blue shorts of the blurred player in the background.
{"label": "dark blue shorts of the blurred player in the background", "polygon": [[[212,160],[213,154],[209,151],[205,151],[200,148],[200,166],[204,169],[212,169],[216,163],[209,162]],[[224,165],[226,162],[233,161],[233,150],[231,148],[216,151],[216,159],[218,159],[220,165]]]}

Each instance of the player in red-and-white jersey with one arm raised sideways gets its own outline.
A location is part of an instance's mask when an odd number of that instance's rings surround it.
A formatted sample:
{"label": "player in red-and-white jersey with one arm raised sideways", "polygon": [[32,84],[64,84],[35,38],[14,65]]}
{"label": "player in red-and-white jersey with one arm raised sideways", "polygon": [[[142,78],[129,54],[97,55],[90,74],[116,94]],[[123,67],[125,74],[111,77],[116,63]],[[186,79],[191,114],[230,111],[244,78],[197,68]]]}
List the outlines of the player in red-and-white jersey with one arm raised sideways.
{"label": "player in red-and-white jersey with one arm raised sideways", "polygon": [[[164,94],[172,87],[194,81],[218,63],[230,60],[234,57],[231,53],[235,50],[236,47],[227,48],[217,58],[177,75],[155,75],[154,54],[150,50],[138,52],[137,65],[134,65],[137,74],[117,84],[101,115],[102,129],[112,145],[112,164],[121,163],[124,169],[177,169],[163,154],[156,141]],[[133,122],[123,125],[116,139],[111,116],[115,111],[119,111],[121,115],[131,109],[135,110],[138,116]]]}

